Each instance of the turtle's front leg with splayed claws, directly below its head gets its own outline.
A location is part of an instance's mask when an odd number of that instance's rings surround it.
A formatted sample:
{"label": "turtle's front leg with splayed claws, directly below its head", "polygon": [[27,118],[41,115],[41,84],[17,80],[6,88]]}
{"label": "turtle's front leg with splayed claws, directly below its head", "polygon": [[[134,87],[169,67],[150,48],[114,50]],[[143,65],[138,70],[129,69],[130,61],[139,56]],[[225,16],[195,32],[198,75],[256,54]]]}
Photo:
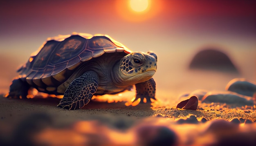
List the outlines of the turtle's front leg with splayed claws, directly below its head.
{"label": "turtle's front leg with splayed claws, directly below its head", "polygon": [[146,103],[151,103],[150,98],[155,99],[155,81],[153,78],[146,82],[135,84],[136,87],[136,98],[133,102],[141,99],[139,103],[144,103],[144,98],[146,98]]}

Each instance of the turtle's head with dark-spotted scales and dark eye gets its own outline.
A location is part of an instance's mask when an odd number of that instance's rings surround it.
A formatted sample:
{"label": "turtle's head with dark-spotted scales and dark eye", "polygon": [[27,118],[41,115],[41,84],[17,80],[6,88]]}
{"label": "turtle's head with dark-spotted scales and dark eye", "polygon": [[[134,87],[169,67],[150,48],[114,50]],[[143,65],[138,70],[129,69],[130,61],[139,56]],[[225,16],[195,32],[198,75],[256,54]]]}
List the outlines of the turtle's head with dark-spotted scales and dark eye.
{"label": "turtle's head with dark-spotted scales and dark eye", "polygon": [[120,60],[119,75],[123,84],[137,84],[149,80],[157,70],[157,55],[151,51],[133,52]]}

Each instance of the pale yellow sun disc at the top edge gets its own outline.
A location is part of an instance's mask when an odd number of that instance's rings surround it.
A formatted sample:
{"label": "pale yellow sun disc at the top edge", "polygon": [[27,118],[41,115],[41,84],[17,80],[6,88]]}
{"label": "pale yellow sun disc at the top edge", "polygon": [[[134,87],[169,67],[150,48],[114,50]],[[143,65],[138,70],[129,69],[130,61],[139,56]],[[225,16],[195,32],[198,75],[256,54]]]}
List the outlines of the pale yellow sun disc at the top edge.
{"label": "pale yellow sun disc at the top edge", "polygon": [[135,12],[143,12],[148,8],[148,0],[130,0],[130,7]]}

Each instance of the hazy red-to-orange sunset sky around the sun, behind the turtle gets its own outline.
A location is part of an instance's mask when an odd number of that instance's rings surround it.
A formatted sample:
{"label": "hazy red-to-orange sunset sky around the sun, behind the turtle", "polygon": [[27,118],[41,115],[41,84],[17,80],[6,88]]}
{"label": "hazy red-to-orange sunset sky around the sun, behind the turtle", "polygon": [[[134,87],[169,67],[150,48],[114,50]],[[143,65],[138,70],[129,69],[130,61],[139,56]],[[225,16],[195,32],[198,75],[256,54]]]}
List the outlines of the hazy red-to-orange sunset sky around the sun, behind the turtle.
{"label": "hazy red-to-orange sunset sky around the sun, behind the turtle", "polygon": [[4,73],[9,82],[13,66],[26,62],[47,37],[76,31],[108,34],[132,51],[156,52],[159,88],[169,88],[166,78],[173,80],[207,46],[227,52],[242,77],[255,81],[255,6],[253,0],[148,0],[146,10],[136,12],[130,0],[5,0],[0,65],[9,70]]}

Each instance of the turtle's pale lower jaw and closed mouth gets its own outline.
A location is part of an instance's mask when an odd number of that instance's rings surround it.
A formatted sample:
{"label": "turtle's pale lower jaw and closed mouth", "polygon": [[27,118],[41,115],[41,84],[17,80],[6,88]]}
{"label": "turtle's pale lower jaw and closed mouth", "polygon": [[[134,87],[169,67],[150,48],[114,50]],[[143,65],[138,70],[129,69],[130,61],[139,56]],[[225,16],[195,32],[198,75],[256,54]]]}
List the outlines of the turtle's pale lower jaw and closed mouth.
{"label": "turtle's pale lower jaw and closed mouth", "polygon": [[155,74],[155,70],[149,70],[142,73],[139,73],[137,75],[133,75],[127,79],[127,81],[137,81],[137,83],[145,82],[152,78],[152,76]]}

